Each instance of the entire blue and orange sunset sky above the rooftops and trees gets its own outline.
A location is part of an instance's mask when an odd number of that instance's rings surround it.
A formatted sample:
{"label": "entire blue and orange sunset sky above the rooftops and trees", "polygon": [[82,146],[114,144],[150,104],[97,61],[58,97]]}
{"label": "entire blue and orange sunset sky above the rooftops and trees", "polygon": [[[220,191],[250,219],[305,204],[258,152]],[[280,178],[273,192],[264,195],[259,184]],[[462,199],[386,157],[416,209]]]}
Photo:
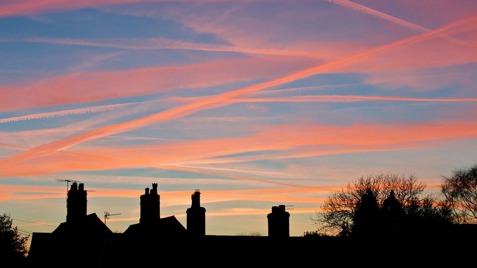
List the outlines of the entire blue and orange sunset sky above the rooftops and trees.
{"label": "entire blue and orange sunset sky above the rooftops and trees", "polygon": [[[477,162],[475,0],[0,0],[0,212],[65,221],[66,184],[125,231],[161,217],[290,235],[331,191]],[[22,221],[20,221],[22,220]],[[42,223],[43,225],[28,223]]]}

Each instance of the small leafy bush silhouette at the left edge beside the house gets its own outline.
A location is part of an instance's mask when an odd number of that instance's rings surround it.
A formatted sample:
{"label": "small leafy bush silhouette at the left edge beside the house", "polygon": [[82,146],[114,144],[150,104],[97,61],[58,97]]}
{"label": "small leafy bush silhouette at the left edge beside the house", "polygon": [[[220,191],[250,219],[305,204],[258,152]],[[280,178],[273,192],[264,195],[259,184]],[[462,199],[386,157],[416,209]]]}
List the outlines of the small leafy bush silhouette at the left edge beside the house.
{"label": "small leafy bush silhouette at the left edge beside the house", "polygon": [[21,237],[17,227],[12,228],[12,223],[10,215],[0,215],[0,252],[4,260],[20,261],[28,253],[26,242],[29,236]]}

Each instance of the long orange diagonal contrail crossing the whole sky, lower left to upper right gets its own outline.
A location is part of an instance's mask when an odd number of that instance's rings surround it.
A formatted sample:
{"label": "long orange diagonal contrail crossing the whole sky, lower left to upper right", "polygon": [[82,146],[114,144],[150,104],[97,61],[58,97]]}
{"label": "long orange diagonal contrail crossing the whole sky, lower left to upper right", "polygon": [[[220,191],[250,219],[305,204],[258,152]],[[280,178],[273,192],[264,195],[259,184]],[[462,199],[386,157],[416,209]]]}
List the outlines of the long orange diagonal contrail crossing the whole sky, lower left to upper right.
{"label": "long orange diagonal contrail crossing the whole sky, lower left to upper right", "polygon": [[[13,165],[16,163],[20,163],[29,159],[45,156],[51,153],[54,153],[56,151],[74,146],[76,144],[81,144],[85,143],[87,141],[93,141],[97,140],[103,137],[107,137],[110,135],[118,134],[118,133],[123,133],[127,131],[131,131],[134,129],[138,129],[144,126],[147,126],[152,123],[157,123],[157,122],[165,122],[168,120],[184,117],[186,115],[194,114],[198,111],[210,109],[210,106],[217,107],[217,104],[226,104],[225,101],[243,95],[245,93],[250,93],[250,92],[255,92],[260,89],[272,87],[272,86],[277,86],[281,85],[284,83],[288,82],[293,82],[299,79],[303,79],[312,75],[316,75],[319,73],[323,73],[325,71],[330,71],[333,69],[337,69],[339,67],[342,67],[343,65],[349,64],[356,62],[357,60],[363,60],[366,56],[369,56],[371,54],[374,54],[376,52],[381,52],[388,50],[390,48],[399,46],[399,45],[404,45],[404,44],[411,44],[415,42],[420,42],[420,41],[425,41],[429,39],[433,39],[436,37],[441,37],[443,34],[455,34],[459,32],[463,32],[469,29],[474,29],[477,27],[477,25],[470,25],[467,27],[461,27],[460,29],[452,29],[453,27],[460,26],[462,24],[467,24],[469,22],[473,22],[477,19],[477,16],[473,16],[464,20],[456,21],[453,23],[450,23],[446,26],[440,27],[436,30],[430,31],[430,32],[425,32],[420,35],[412,36],[409,38],[402,39],[400,41],[395,41],[389,44],[381,45],[369,50],[366,50],[364,52],[355,54],[350,57],[346,57],[343,59],[340,59],[338,61],[334,62],[328,62],[325,64],[321,64],[312,68],[308,68],[299,72],[292,73],[290,75],[283,76],[278,79],[266,81],[266,82],[261,82],[255,85],[247,86],[244,88],[240,88],[237,90],[225,92],[222,94],[218,94],[216,96],[210,97],[210,98],[204,98],[200,99],[195,103],[188,103],[182,106],[174,107],[169,110],[165,110],[156,114],[152,114],[143,118],[135,119],[129,122],[124,122],[120,124],[113,124],[101,128],[97,128],[91,131],[88,131],[83,134],[79,134],[76,136],[72,136],[69,138],[65,138],[63,140],[59,140],[56,142],[52,142],[49,144],[43,144],[38,147],[34,147],[26,152],[23,152],[18,155],[14,155],[12,157],[9,157],[3,161],[0,162],[0,167],[5,166],[5,165]],[[224,103],[225,102],[225,103]]]}

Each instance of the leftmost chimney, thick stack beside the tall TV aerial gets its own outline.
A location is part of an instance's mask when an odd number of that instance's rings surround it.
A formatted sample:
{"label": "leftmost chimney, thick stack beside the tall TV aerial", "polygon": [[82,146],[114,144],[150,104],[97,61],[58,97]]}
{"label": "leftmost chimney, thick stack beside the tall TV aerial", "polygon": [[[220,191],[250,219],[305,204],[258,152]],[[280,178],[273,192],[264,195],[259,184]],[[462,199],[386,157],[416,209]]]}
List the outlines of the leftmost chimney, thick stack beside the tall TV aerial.
{"label": "leftmost chimney, thick stack beside the tall TV aerial", "polygon": [[66,209],[66,222],[78,223],[86,218],[87,214],[87,191],[85,184],[73,183],[68,191]]}

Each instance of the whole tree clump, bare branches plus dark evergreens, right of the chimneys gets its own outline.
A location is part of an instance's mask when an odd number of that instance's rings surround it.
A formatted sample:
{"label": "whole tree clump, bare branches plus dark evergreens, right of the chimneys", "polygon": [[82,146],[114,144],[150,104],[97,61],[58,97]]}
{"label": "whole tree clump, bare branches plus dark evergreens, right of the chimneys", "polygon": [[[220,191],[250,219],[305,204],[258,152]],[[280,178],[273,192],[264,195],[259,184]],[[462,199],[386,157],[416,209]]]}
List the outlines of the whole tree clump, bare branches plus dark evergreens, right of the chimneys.
{"label": "whole tree clump, bare branches plus dark evergreens, right of the chimneys", "polygon": [[396,234],[449,222],[446,207],[425,192],[414,175],[372,174],[330,193],[312,218],[320,232],[348,235]]}

